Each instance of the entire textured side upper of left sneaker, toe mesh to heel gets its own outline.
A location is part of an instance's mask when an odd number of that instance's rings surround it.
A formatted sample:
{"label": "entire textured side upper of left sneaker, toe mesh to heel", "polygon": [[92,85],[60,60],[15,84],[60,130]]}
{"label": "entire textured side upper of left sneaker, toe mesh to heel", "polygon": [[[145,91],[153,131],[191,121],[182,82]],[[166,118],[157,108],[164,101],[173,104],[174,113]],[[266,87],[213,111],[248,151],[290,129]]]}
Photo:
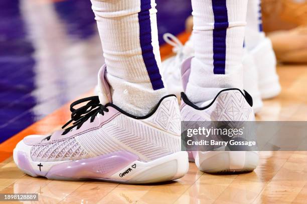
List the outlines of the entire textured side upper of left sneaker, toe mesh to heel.
{"label": "entire textured side upper of left sneaker, toe mesh to heel", "polygon": [[130,151],[149,161],[181,150],[180,110],[176,97],[165,98],[146,119],[118,114],[98,129],[74,138],[34,145],[34,161],[76,160],[118,150]]}

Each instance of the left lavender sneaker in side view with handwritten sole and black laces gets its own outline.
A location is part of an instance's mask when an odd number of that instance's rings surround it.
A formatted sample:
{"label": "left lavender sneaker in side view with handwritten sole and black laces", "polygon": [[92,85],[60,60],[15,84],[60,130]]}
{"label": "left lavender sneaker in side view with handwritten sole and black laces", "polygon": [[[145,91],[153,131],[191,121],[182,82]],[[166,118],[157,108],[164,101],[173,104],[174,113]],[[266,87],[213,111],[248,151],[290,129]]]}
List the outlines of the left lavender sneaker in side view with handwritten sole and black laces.
{"label": "left lavender sneaker in side view with handwritten sole and black laces", "polygon": [[184,176],[189,162],[181,151],[176,96],[163,97],[145,116],[133,116],[111,103],[104,73],[105,66],[98,74],[99,96],[71,104],[72,119],[63,128],[73,122],[70,127],[17,144],[17,166],[34,177],[60,180],[151,183]]}

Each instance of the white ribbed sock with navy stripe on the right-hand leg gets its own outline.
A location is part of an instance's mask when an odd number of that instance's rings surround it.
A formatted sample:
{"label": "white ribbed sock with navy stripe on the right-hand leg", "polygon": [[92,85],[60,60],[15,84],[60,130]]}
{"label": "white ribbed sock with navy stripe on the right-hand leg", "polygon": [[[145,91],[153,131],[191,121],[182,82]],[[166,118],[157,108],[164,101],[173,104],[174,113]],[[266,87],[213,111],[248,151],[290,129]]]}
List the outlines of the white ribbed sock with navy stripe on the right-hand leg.
{"label": "white ribbed sock with navy stripe on the right-hand leg", "polygon": [[224,88],[243,88],[247,0],[192,0],[195,57],[186,94],[201,105]]}

